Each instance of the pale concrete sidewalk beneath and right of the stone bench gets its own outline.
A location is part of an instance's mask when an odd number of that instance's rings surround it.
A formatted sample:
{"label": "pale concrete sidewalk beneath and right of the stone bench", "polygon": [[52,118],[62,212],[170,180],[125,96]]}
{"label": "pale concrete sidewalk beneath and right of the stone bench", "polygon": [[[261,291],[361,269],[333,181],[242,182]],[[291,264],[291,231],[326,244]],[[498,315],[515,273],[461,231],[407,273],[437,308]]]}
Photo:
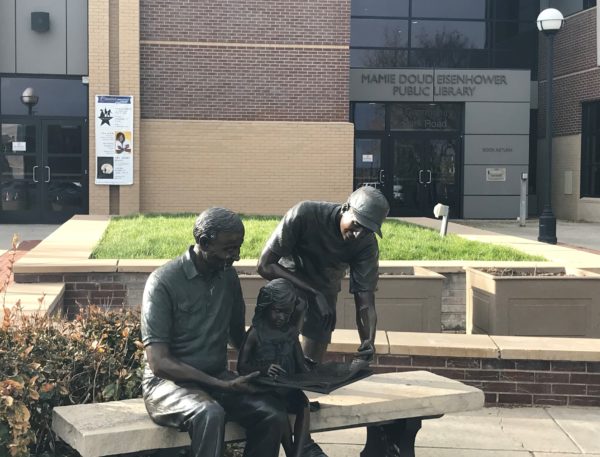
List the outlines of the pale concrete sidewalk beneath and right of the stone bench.
{"label": "pale concrete sidewalk beneath and right of the stone bench", "polygon": [[[600,456],[600,408],[485,408],[423,422],[417,457]],[[329,457],[359,456],[364,429],[313,435]],[[280,454],[283,457],[283,453]]]}

